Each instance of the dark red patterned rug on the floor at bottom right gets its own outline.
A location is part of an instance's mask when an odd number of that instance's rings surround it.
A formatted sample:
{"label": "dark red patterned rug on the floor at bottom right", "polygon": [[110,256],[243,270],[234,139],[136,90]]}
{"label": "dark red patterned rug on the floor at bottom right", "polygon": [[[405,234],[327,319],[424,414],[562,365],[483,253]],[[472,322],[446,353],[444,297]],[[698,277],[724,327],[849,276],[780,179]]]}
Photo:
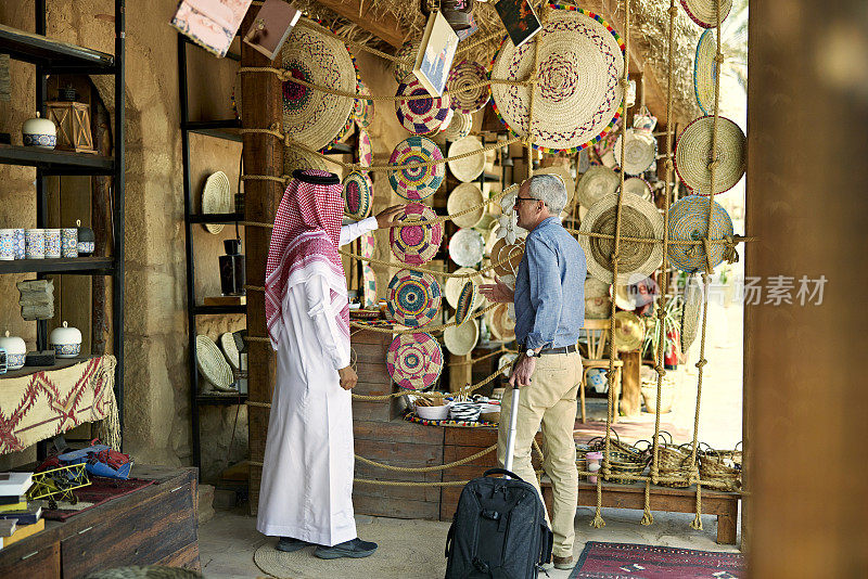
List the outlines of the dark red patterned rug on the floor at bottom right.
{"label": "dark red patterned rug on the floor at bottom right", "polygon": [[570,579],[737,579],[741,553],[588,541]]}

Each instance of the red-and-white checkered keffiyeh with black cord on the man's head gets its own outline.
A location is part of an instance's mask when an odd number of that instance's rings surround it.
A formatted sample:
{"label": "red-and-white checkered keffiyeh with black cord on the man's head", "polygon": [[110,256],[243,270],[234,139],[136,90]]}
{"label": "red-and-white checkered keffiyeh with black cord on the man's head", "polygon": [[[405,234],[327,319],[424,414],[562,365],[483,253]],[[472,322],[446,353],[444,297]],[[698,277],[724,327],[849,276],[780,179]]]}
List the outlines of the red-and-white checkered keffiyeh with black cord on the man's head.
{"label": "red-and-white checkered keffiyeh with black cord on the man's head", "polygon": [[330,310],[349,342],[346,278],[337,253],[343,215],[341,181],[335,175],[318,169],[293,173],[275,218],[266,266],[265,316],[276,350],[286,291],[315,275],[326,278],[331,290]]}

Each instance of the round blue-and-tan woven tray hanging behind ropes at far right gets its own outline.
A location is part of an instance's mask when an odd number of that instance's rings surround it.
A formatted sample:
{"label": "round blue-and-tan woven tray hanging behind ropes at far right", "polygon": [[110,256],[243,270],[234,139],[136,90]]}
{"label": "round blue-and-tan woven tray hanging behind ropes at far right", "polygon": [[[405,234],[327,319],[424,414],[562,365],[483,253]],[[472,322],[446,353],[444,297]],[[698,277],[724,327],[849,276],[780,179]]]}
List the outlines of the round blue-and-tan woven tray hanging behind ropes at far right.
{"label": "round blue-and-tan woven tray hanging behind ropes at far right", "polygon": [[[710,240],[723,240],[732,235],[732,220],[719,203],[700,195],[688,195],[669,207],[669,240],[699,241],[705,236],[709,224],[709,203],[712,209],[712,228]],[[699,271],[705,269],[707,261],[702,245],[669,245],[669,263],[681,271]],[[716,243],[711,246],[712,268],[724,260],[725,247]]]}

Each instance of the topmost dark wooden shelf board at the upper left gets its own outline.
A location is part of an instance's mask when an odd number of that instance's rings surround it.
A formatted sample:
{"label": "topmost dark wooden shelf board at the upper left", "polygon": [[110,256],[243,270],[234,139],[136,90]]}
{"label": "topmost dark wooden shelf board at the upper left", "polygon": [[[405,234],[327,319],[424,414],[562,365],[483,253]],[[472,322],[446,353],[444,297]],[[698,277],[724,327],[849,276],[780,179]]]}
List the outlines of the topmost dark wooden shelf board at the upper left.
{"label": "topmost dark wooden shelf board at the upper left", "polygon": [[53,74],[112,75],[115,57],[42,35],[0,24],[0,52],[16,61],[38,64]]}

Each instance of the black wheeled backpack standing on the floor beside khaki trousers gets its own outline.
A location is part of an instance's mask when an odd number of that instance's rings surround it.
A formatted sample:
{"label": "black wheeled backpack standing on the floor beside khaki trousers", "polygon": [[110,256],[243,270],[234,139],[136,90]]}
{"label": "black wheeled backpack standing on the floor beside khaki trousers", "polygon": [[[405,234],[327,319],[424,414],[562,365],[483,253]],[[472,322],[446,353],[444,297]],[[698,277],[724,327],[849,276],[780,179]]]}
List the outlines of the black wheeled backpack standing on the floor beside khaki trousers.
{"label": "black wheeled backpack standing on the floor beside khaki trousers", "polygon": [[545,509],[533,485],[503,468],[468,483],[446,538],[446,579],[535,579],[551,558]]}

